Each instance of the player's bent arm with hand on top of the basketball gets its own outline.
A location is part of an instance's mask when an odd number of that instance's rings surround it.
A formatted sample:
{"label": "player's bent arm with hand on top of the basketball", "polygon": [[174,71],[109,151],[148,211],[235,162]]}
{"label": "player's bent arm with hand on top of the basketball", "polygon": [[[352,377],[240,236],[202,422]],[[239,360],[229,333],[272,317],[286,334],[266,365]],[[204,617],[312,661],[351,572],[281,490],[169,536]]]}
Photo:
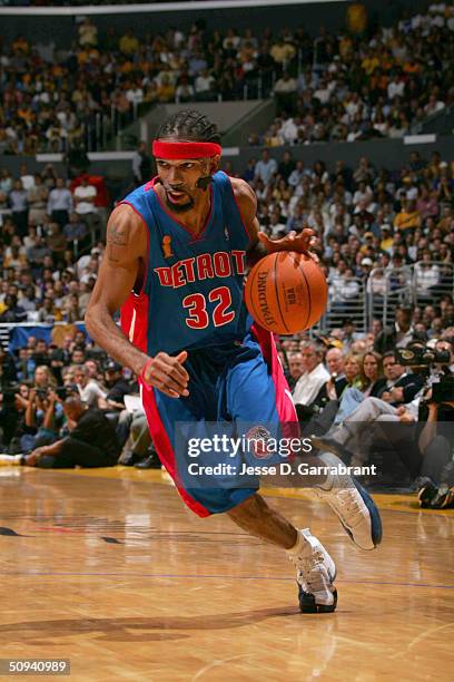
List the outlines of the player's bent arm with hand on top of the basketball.
{"label": "player's bent arm with hand on top of the basketball", "polygon": [[231,178],[231,186],[250,238],[250,245],[247,251],[248,265],[254,265],[257,261],[268,255],[268,253],[276,251],[308,252],[314,241],[313,236],[315,233],[313,230],[305,227],[299,234],[292,231],[280,240],[270,240],[265,232],[260,232],[260,225],[256,215],[257,197],[253,189],[245,181],[238,178]]}

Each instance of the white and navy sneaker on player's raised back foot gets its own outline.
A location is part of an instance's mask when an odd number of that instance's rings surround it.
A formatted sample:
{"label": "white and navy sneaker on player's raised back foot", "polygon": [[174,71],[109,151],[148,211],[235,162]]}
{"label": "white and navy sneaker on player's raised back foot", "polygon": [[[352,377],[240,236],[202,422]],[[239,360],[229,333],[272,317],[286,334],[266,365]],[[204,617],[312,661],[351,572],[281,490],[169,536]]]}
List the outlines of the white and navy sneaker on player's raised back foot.
{"label": "white and navy sneaker on player's raised back foot", "polygon": [[[320,452],[324,465],[336,469],[342,460],[333,452]],[[374,549],[382,542],[382,519],[374,500],[348,474],[329,474],[327,483],[314,486],[315,495],[328,503],[344,529],[361,549]]]}

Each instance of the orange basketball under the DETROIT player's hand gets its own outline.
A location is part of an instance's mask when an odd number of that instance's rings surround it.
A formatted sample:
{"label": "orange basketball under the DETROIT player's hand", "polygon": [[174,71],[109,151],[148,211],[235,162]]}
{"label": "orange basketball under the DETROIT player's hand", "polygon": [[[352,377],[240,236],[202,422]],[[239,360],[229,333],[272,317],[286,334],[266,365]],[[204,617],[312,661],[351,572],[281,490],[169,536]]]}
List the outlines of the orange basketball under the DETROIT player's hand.
{"label": "orange basketball under the DETROIT player's hand", "polygon": [[265,256],[250,271],[245,301],[253,318],[268,331],[294,334],[322,318],[328,288],[322,269],[310,256],[279,251]]}

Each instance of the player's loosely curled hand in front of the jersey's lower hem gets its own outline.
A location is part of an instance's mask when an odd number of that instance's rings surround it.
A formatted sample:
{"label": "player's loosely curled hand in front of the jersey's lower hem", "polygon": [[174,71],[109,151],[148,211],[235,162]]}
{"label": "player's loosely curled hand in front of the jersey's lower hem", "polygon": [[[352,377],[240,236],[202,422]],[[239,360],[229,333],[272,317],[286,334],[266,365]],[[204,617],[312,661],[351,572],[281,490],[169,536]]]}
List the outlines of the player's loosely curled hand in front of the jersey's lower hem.
{"label": "player's loosely curled hand in front of the jersey's lower hem", "polygon": [[186,398],[189,396],[187,389],[189,374],[182,367],[188,353],[181,351],[175,358],[165,352],[157,353],[145,364],[140,374],[145,383],[154,386],[170,398]]}

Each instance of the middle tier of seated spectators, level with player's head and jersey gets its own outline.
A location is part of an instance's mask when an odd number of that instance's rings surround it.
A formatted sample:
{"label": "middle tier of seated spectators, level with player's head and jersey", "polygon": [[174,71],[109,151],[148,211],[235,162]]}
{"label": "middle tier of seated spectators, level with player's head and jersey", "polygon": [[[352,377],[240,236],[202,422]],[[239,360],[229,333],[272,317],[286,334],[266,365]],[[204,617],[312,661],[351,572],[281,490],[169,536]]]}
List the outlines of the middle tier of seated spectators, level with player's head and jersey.
{"label": "middle tier of seated spectators, level with player's head and jersey", "polygon": [[[136,184],[151,159],[142,145],[132,162]],[[454,164],[438,153],[409,155],[398,172],[336,162],[310,167],[287,150],[277,162],[265,149],[240,174],[254,188],[263,231],[279,238],[304,225],[329,285],[328,316],[336,327],[353,316],[364,330],[403,296],[416,303],[414,324],[427,338],[454,324]],[[227,172],[233,173],[229,164]],[[72,182],[52,166],[30,174],[0,173],[0,322],[75,322],[83,319],[102,257],[105,207],[99,186],[82,174]],[[117,197],[112,197],[117,198]],[[120,197],[118,197],[120,198]],[[394,296],[394,298],[393,298]]]}

